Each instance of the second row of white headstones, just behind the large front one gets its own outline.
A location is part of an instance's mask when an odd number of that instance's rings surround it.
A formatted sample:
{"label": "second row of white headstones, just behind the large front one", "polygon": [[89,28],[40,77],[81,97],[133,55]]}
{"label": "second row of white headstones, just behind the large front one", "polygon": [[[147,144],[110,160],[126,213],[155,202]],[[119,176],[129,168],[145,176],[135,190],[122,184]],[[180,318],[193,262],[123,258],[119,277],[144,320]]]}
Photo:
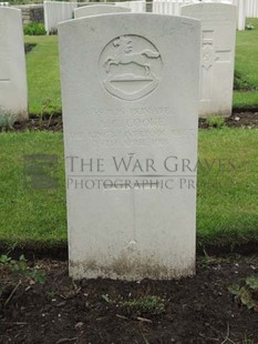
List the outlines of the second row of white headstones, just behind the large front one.
{"label": "second row of white headstones, just behind the large front one", "polygon": [[[113,6],[89,6],[74,11],[75,18],[126,12]],[[202,21],[199,115],[231,113],[236,11],[234,6],[196,4],[182,14]],[[0,8],[0,114],[1,122],[28,118],[25,60],[20,10]],[[153,61],[153,60],[149,60]],[[37,67],[35,67],[37,68]],[[176,82],[176,80],[175,80]],[[198,88],[198,84],[195,85]]]}

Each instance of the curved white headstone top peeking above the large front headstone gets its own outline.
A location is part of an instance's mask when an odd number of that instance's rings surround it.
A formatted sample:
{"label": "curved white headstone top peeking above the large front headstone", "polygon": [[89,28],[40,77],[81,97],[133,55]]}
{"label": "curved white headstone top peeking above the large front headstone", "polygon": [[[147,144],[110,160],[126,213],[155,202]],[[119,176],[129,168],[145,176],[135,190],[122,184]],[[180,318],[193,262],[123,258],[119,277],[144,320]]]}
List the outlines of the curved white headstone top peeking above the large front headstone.
{"label": "curved white headstone top peeking above the large front headstone", "polygon": [[125,12],[131,12],[131,9],[117,7],[114,4],[90,4],[76,8],[74,10],[74,18],[78,19],[82,17],[96,16],[96,14],[125,13]]}

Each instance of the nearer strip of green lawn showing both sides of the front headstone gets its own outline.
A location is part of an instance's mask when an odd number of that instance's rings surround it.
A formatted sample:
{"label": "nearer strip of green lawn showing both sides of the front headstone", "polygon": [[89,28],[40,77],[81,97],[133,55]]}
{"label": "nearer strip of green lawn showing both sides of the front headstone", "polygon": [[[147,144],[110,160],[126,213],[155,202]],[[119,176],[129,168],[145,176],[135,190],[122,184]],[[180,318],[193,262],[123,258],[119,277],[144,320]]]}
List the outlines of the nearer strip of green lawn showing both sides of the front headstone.
{"label": "nearer strip of green lawn showing both sides of the front headstone", "polygon": [[[2,133],[0,146],[0,243],[18,243],[24,247],[31,244],[64,245],[66,210],[62,134]],[[257,151],[257,130],[200,130],[198,245],[258,243]],[[25,188],[23,155],[35,153],[58,154],[56,190]]]}

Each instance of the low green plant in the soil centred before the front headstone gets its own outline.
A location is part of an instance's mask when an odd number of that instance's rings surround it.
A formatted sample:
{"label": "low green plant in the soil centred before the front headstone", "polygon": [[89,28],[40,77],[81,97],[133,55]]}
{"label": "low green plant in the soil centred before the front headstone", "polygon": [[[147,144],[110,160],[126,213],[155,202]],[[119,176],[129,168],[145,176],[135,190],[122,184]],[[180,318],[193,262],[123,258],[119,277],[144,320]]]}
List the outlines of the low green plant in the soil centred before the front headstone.
{"label": "low green plant in the soil centred before the front headstone", "polygon": [[120,306],[128,313],[137,315],[161,315],[165,312],[165,301],[156,295],[146,295],[131,301],[120,302]]}

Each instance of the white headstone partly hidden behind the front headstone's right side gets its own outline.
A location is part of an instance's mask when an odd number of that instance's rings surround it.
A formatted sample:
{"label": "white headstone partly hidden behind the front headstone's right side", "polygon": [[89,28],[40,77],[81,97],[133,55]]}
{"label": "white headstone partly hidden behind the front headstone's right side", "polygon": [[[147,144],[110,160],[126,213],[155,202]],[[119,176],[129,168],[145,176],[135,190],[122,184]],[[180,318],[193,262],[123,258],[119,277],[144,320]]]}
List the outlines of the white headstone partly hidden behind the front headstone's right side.
{"label": "white headstone partly hidden behind the front headstone's right side", "polygon": [[229,117],[233,105],[236,7],[196,3],[182,7],[182,16],[202,22],[200,117]]}

